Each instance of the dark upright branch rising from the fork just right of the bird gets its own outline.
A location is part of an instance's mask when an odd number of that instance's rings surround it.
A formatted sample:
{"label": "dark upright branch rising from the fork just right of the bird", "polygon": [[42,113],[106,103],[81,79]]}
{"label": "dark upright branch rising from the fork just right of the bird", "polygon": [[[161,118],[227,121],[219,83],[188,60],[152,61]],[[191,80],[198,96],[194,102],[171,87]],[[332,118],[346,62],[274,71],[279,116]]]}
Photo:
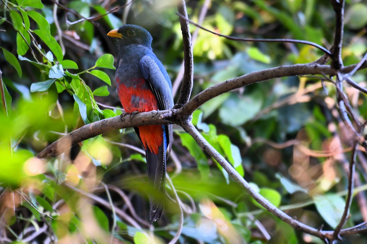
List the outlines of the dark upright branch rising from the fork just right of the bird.
{"label": "dark upright branch rising from the fork just right of the bird", "polygon": [[[188,18],[186,11],[185,0],[181,0],[177,6],[178,12]],[[175,108],[180,108],[182,105],[186,104],[191,96],[193,77],[194,77],[194,58],[192,54],[192,42],[191,33],[189,28],[189,22],[185,19],[180,18],[181,31],[182,31],[182,41],[183,41],[183,62],[185,71],[183,73],[183,82],[180,89],[180,95],[178,97]]]}

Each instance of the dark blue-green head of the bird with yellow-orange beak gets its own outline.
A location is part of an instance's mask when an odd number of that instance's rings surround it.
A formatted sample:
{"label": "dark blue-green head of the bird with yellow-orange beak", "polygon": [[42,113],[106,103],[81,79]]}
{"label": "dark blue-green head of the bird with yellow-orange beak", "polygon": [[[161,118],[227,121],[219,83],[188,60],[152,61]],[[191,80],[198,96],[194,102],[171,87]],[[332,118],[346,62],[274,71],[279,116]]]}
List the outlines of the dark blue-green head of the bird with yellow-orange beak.
{"label": "dark blue-green head of the bird with yellow-orange beak", "polygon": [[107,35],[118,38],[118,45],[138,44],[150,48],[153,40],[147,30],[137,25],[123,25],[119,29],[111,30]]}

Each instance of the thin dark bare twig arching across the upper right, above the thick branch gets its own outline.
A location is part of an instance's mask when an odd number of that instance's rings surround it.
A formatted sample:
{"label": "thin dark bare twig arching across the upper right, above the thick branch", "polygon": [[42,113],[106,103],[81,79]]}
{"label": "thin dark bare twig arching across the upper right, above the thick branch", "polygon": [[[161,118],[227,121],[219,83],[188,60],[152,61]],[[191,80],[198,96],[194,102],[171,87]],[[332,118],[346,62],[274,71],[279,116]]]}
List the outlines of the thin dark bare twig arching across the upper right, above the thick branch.
{"label": "thin dark bare twig arching across the upper right, above the thick branch", "polygon": [[317,49],[320,49],[321,51],[323,51],[324,53],[326,53],[327,55],[331,56],[331,52],[329,50],[327,50],[326,48],[324,48],[323,46],[320,46],[319,44],[316,44],[314,42],[310,42],[310,41],[304,41],[304,40],[295,40],[295,39],[263,39],[263,38],[240,38],[240,37],[233,37],[230,35],[222,35],[219,33],[216,33],[215,31],[211,31],[209,29],[206,29],[203,26],[198,25],[197,23],[193,22],[192,20],[186,18],[185,16],[183,16],[182,14],[176,13],[178,16],[180,16],[183,19],[186,19],[188,22],[192,23],[193,25],[195,25],[196,27],[199,27],[200,29],[203,29],[205,31],[208,31],[212,34],[215,35],[219,35],[220,37],[224,37],[228,40],[233,40],[233,41],[245,41],[245,42],[289,42],[289,43],[299,43],[299,44],[306,44],[306,45],[310,45],[313,46]]}

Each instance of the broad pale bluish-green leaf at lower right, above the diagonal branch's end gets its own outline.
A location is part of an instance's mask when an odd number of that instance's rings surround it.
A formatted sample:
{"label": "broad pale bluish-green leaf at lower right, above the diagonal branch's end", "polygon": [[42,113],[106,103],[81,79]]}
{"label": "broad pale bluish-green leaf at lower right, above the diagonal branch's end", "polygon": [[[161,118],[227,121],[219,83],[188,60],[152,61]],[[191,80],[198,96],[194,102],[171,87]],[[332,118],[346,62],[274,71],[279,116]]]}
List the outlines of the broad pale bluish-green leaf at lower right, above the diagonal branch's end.
{"label": "broad pale bluish-green leaf at lower right, above the diagonal branch's end", "polygon": [[332,228],[339,224],[343,215],[345,201],[336,194],[324,194],[313,196],[317,211]]}

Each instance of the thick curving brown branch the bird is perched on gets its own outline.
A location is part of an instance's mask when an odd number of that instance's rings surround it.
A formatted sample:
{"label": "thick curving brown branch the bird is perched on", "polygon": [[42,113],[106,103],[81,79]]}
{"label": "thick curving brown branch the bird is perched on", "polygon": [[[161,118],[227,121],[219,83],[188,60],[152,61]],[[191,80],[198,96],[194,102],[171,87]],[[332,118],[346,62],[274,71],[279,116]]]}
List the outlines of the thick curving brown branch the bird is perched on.
{"label": "thick curving brown branch the bird is perched on", "polygon": [[[353,65],[345,67],[344,71],[350,72],[354,67],[355,66]],[[267,70],[251,72],[250,74],[243,75],[235,79],[226,80],[225,82],[219,83],[202,91],[180,109],[138,113],[135,116],[126,116],[123,123],[121,123],[120,117],[117,116],[84,125],[46,147],[37,155],[37,157],[55,157],[83,140],[113,130],[152,124],[181,124],[182,120],[185,120],[185,118],[192,115],[197,108],[220,94],[268,79],[305,74],[335,75],[335,70],[332,69],[330,65],[309,63],[279,66]]]}

